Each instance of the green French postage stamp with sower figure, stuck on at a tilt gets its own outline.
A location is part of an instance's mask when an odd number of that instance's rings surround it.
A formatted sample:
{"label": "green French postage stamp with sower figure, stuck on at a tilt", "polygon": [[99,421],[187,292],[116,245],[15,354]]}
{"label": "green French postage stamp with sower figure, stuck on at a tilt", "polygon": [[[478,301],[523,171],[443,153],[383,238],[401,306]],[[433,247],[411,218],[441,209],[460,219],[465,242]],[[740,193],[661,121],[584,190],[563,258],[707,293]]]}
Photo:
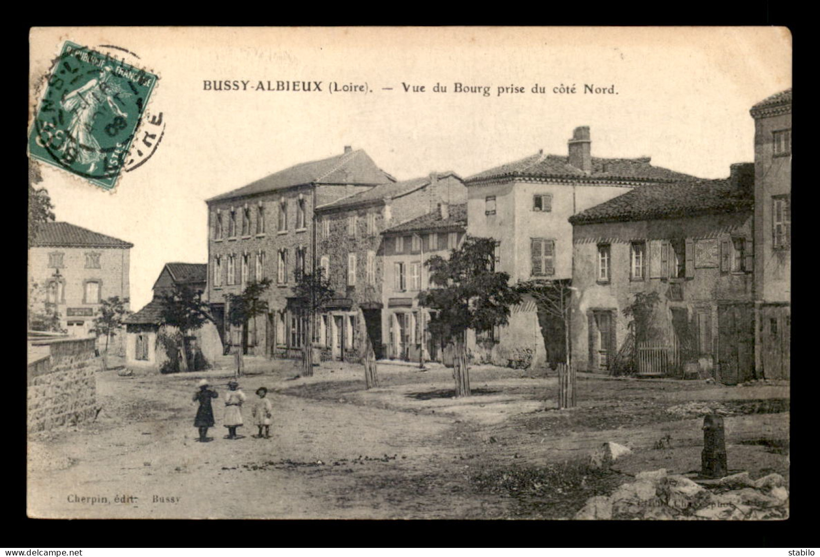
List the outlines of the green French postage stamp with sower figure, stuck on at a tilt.
{"label": "green French postage stamp with sower figure, stuck on at a tilt", "polygon": [[29,135],[29,154],[112,189],[157,75],[66,41]]}

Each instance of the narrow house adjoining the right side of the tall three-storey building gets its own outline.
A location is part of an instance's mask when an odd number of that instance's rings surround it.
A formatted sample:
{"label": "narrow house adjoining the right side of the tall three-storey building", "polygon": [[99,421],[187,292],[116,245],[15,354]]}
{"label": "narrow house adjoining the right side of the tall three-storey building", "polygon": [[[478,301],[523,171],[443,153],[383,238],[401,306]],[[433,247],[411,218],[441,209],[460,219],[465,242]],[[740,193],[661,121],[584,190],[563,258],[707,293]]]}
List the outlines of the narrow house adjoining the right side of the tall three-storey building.
{"label": "narrow house adjoining the right side of the tall three-storey building", "polygon": [[317,208],[317,267],[335,292],[315,327],[314,341],[327,358],[362,354],[365,331],[376,358],[385,357],[383,280],[388,271],[382,233],[442,203],[466,200],[467,188],[458,175],[433,172],[377,185]]}

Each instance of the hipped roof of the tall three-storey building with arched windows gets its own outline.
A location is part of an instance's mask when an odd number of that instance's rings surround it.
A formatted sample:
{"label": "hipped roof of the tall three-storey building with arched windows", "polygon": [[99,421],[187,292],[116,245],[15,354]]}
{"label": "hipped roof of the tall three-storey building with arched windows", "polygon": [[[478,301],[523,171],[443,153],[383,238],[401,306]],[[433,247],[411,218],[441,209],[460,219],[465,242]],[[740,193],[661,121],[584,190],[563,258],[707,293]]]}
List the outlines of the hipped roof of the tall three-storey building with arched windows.
{"label": "hipped roof of the tall three-storey building with arched windows", "polygon": [[302,162],[294,167],[274,172],[239,189],[216,195],[208,202],[233,199],[246,195],[262,194],[294,185],[311,184],[361,184],[377,185],[392,181],[362,149],[342,153],[321,161]]}

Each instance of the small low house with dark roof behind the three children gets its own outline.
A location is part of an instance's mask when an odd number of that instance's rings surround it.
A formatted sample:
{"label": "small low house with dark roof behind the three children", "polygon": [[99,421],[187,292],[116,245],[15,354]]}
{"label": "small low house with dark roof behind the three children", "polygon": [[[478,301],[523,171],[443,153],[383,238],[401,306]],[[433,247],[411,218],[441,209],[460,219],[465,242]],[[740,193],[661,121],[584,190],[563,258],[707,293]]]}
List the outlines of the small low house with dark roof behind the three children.
{"label": "small low house with dark roof behind the three children", "polygon": [[[176,285],[185,285],[205,294],[207,291],[207,263],[166,263],[153,285],[153,299],[125,319],[125,365],[129,368],[161,370],[168,361],[162,344],[162,332],[173,327],[162,326],[162,296],[171,294]],[[222,354],[222,343],[217,327],[206,322],[193,331],[187,345],[194,353],[194,361],[213,363]]]}

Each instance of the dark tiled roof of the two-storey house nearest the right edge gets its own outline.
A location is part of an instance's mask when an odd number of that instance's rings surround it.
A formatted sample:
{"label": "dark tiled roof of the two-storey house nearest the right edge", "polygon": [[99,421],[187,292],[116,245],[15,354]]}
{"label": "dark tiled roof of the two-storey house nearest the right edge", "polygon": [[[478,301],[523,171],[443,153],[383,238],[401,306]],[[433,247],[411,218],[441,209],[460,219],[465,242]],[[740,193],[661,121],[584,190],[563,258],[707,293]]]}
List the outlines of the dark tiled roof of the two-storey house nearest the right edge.
{"label": "dark tiled roof of the two-storey house nearest the right edge", "polygon": [[650,184],[579,212],[573,225],[606,221],[645,221],[713,212],[751,211],[751,189],[738,189],[728,179]]}

